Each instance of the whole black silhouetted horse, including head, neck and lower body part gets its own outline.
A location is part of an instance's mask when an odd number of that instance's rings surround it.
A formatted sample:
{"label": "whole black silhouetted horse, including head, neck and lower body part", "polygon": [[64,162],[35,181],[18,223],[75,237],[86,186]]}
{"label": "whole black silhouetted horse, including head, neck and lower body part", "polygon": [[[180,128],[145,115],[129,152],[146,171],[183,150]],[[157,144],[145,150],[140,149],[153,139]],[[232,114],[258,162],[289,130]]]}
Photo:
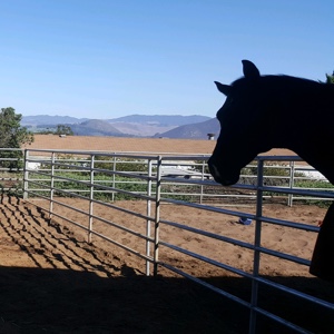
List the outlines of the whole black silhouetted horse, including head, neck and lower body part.
{"label": "whole black silhouetted horse, including head, neck and lower body part", "polygon": [[[215,81],[226,101],[217,112],[220,134],[208,160],[224,186],[259,153],[287,148],[334,184],[334,85],[291,76],[261,76],[243,60],[244,77],[232,85]],[[334,281],[334,203],[327,210],[310,272]]]}

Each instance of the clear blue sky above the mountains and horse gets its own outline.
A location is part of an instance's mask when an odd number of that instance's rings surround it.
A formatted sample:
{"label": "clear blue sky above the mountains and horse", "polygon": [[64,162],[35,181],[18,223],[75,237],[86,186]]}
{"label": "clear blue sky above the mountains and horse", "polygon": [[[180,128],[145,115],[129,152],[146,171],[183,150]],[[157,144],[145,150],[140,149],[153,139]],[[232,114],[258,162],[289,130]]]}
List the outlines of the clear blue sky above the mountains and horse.
{"label": "clear blue sky above the mountains and horse", "polygon": [[333,0],[10,0],[0,4],[0,107],[18,114],[215,117],[214,80],[334,70]]}

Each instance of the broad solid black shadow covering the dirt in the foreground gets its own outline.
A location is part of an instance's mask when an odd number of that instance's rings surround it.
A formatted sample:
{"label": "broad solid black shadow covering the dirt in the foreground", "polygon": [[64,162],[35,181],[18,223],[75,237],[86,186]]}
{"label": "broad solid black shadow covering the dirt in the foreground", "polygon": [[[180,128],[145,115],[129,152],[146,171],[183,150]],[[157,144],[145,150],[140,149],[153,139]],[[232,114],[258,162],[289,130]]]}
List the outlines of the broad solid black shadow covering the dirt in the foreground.
{"label": "broad solid black shadow covering the dirt in the foreground", "polygon": [[[215,279],[240,296],[249,294],[244,278]],[[303,277],[286,279],[305,284]],[[0,267],[0,333],[246,333],[248,326],[248,310],[185,278]],[[313,333],[332,333],[333,316],[314,305],[268,291],[261,296]],[[282,331],[289,333],[258,320],[256,333]]]}

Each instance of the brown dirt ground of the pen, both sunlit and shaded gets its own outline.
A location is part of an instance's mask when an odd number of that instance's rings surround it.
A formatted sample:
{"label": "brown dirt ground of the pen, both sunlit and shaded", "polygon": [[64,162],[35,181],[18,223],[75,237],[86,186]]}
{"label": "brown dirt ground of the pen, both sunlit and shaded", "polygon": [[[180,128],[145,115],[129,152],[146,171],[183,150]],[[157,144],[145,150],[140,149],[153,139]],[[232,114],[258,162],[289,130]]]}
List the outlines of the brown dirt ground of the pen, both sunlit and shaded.
{"label": "brown dirt ground of the pen, both sunlit and shaded", "polygon": [[[66,199],[66,203],[81,207],[75,199]],[[140,202],[117,205],[138,213],[145,209]],[[78,212],[61,210],[69,219],[80,222]],[[316,226],[325,209],[268,204],[264,213]],[[105,207],[96,207],[95,215],[112,216],[115,222],[127,226],[137,224],[125,213],[106,212]],[[254,237],[255,224],[240,225],[236,217],[205,210],[166,205],[161,208],[161,218],[238,237],[245,243],[253,242]],[[143,252],[144,246],[125,230],[117,232],[110,226],[107,230],[101,224],[96,224],[96,230]],[[160,233],[166,243],[252,271],[253,255],[239,247],[222,247],[222,243],[184,234],[176,227],[161,227]],[[265,247],[311,258],[315,233],[265,224],[263,233]],[[160,259],[249,302],[252,286],[246,278],[187,259],[166,247],[161,247]],[[310,275],[306,266],[275,263],[269,256],[264,256],[262,263],[264,277],[334,303],[334,284]],[[49,219],[45,210],[14,197],[2,198],[0,205],[0,333],[228,334],[248,331],[246,307],[166,268],[160,268],[157,277],[148,277],[141,258],[96,237],[87,243],[86,232],[61,218]],[[259,306],[278,310],[278,315],[287,316],[313,333],[333,333],[333,310],[308,305],[283,291],[259,286]],[[289,332],[258,316],[256,333]]]}

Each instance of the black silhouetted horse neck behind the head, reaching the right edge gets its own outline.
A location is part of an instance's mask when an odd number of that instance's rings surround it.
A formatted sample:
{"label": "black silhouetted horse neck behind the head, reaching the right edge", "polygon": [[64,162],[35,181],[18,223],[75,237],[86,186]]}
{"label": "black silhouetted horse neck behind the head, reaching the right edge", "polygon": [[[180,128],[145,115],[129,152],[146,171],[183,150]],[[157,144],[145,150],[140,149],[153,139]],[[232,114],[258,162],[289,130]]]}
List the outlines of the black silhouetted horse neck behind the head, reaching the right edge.
{"label": "black silhouetted horse neck behind the head, reaching the right edge", "polygon": [[272,147],[295,151],[334,184],[334,85],[291,77],[274,81],[274,89],[268,82],[264,88],[267,106],[274,106],[264,110]]}

